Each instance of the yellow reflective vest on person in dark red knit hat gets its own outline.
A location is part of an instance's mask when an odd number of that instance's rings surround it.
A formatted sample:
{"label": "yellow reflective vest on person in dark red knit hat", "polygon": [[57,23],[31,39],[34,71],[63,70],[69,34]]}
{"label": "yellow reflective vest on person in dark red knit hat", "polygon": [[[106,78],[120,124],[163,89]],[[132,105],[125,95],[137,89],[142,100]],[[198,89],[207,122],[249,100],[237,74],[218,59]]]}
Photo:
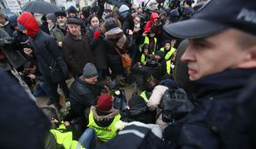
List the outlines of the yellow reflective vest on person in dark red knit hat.
{"label": "yellow reflective vest on person in dark red knit hat", "polygon": [[93,118],[92,110],[89,113],[89,124],[87,127],[91,127],[96,132],[96,137],[98,137],[102,142],[108,142],[112,138],[116,137],[117,128],[115,127],[116,123],[120,121],[121,115],[117,114],[108,127],[100,127],[96,124]]}

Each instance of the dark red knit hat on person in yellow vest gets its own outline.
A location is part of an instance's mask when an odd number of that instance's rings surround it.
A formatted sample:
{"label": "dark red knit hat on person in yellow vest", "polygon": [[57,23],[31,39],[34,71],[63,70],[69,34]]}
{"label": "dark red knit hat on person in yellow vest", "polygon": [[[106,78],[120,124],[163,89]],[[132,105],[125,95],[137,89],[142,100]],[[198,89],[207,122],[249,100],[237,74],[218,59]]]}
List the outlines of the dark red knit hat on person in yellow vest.
{"label": "dark red knit hat on person in yellow vest", "polygon": [[110,94],[102,94],[97,101],[97,108],[101,111],[109,111],[112,108],[112,97]]}

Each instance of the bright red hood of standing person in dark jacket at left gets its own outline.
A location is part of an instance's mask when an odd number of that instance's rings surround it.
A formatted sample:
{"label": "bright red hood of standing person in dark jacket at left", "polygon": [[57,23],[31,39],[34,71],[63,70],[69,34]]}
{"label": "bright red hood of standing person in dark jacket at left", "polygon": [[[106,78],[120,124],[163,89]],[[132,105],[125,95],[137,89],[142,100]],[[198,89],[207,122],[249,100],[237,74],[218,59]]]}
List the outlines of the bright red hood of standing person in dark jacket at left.
{"label": "bright red hood of standing person in dark jacket at left", "polygon": [[17,18],[17,22],[26,28],[27,36],[35,36],[39,30],[39,25],[30,12],[23,12],[22,15]]}

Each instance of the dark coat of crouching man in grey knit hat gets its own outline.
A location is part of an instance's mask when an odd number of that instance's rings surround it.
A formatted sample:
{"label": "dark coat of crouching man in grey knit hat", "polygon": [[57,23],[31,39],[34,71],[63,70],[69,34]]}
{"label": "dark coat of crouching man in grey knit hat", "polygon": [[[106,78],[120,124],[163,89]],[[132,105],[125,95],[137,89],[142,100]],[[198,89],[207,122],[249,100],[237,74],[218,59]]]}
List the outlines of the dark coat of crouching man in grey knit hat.
{"label": "dark coat of crouching man in grey knit hat", "polygon": [[86,84],[82,76],[77,78],[70,88],[71,108],[76,114],[83,115],[86,108],[96,104],[101,89],[103,89],[102,84]]}

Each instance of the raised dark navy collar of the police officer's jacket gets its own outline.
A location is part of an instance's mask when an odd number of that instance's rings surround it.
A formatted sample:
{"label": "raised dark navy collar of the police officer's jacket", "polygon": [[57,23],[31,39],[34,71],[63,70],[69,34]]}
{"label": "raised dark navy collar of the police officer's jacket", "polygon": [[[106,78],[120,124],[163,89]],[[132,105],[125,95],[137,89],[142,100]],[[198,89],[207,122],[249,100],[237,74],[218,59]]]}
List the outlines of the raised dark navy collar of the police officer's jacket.
{"label": "raised dark navy collar of the police officer's jacket", "polygon": [[225,70],[217,74],[211,74],[202,79],[191,81],[194,85],[195,99],[215,94],[224,94],[231,91],[238,93],[248,83],[250,76],[256,73],[256,69]]}

